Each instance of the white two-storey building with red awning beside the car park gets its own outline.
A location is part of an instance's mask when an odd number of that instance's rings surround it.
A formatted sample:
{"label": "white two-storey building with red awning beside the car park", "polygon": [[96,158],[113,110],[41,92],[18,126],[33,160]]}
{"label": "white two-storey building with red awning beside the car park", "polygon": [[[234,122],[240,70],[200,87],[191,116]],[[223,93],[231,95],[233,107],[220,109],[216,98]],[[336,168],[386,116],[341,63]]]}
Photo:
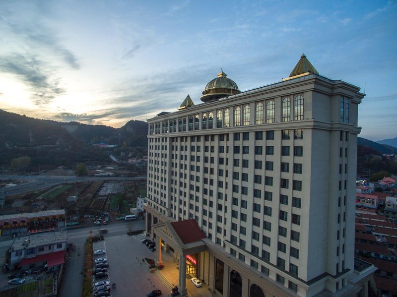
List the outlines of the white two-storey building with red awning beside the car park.
{"label": "white two-storey building with red awning beside the car park", "polygon": [[10,247],[11,269],[58,270],[65,263],[66,231],[50,231],[14,238]]}

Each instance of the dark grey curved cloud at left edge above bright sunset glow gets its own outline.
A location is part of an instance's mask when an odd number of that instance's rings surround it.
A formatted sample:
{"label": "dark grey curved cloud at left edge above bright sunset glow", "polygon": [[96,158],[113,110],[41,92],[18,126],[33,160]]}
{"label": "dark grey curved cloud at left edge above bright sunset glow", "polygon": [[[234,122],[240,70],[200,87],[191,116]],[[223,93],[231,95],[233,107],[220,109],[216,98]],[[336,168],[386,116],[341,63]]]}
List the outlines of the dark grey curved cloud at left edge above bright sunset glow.
{"label": "dark grey curved cloud at left edge above bright sunset glow", "polygon": [[13,74],[25,82],[35,105],[49,104],[55,97],[66,92],[59,87],[59,78],[54,72],[46,69],[45,63],[35,56],[14,54],[0,57],[0,71]]}

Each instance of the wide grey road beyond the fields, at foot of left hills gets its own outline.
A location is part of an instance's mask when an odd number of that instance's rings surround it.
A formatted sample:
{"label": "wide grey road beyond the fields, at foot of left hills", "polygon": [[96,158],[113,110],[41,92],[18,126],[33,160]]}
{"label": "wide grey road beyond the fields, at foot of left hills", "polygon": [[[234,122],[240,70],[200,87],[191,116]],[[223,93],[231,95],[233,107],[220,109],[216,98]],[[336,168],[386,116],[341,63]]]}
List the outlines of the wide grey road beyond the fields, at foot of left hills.
{"label": "wide grey road beyond the fields, at foot of left hills", "polygon": [[44,189],[47,187],[53,187],[57,184],[62,183],[73,183],[82,182],[87,180],[146,180],[146,176],[134,177],[134,178],[117,178],[117,177],[57,177],[57,176],[6,176],[0,175],[0,180],[17,180],[18,183],[14,186],[5,187],[5,197],[22,194],[26,192],[32,192],[39,189]]}

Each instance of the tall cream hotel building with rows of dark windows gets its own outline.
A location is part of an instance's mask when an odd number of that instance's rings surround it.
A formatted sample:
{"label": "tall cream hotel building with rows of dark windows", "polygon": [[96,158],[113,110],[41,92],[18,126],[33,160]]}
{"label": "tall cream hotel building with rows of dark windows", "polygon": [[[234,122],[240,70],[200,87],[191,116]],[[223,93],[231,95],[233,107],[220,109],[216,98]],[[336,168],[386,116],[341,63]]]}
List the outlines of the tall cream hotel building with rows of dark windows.
{"label": "tall cream hotel building with rows of dark windows", "polygon": [[364,94],[304,55],[278,83],[240,92],[222,71],[202,94],[148,120],[146,232],[176,250],[164,224],[197,221],[194,275],[222,296],[360,296],[347,197]]}

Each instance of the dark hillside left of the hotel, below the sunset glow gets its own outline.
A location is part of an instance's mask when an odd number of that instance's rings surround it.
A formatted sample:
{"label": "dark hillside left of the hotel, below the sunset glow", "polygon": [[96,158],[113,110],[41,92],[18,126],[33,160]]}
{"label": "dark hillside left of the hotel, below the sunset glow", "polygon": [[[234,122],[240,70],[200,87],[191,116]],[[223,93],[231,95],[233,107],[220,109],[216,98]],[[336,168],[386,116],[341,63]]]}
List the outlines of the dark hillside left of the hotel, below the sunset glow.
{"label": "dark hillside left of the hotel, below the sunset glow", "polygon": [[[121,144],[124,155],[147,148],[147,123],[131,120],[121,128],[34,119],[0,110],[0,165],[28,156],[38,168],[108,162],[108,152],[92,144]],[[121,155],[121,148],[118,148]],[[35,169],[37,170],[37,169]]]}

